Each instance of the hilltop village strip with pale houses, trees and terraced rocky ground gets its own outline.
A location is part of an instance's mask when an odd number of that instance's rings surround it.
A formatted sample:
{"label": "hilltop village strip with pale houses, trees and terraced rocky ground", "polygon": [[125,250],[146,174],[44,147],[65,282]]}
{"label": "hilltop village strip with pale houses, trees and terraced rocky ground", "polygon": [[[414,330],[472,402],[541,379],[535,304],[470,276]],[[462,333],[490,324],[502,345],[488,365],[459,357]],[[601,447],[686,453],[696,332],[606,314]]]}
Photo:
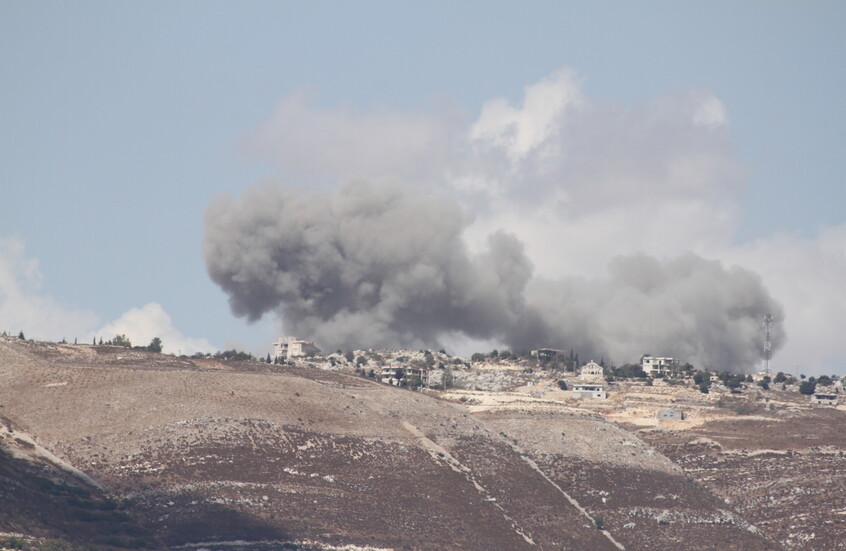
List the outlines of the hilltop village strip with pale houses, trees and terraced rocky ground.
{"label": "hilltop village strip with pale houses, trees and terraced rocky ground", "polygon": [[730,373],[698,370],[672,357],[643,355],[639,362],[581,362],[572,349],[493,350],[470,359],[444,350],[336,350],[322,354],[313,342],[283,337],[268,363],[348,371],[409,390],[454,400],[471,411],[506,405],[542,411],[565,404],[635,426],[683,429],[713,418],[777,409],[838,409],[844,381],[837,375]]}

